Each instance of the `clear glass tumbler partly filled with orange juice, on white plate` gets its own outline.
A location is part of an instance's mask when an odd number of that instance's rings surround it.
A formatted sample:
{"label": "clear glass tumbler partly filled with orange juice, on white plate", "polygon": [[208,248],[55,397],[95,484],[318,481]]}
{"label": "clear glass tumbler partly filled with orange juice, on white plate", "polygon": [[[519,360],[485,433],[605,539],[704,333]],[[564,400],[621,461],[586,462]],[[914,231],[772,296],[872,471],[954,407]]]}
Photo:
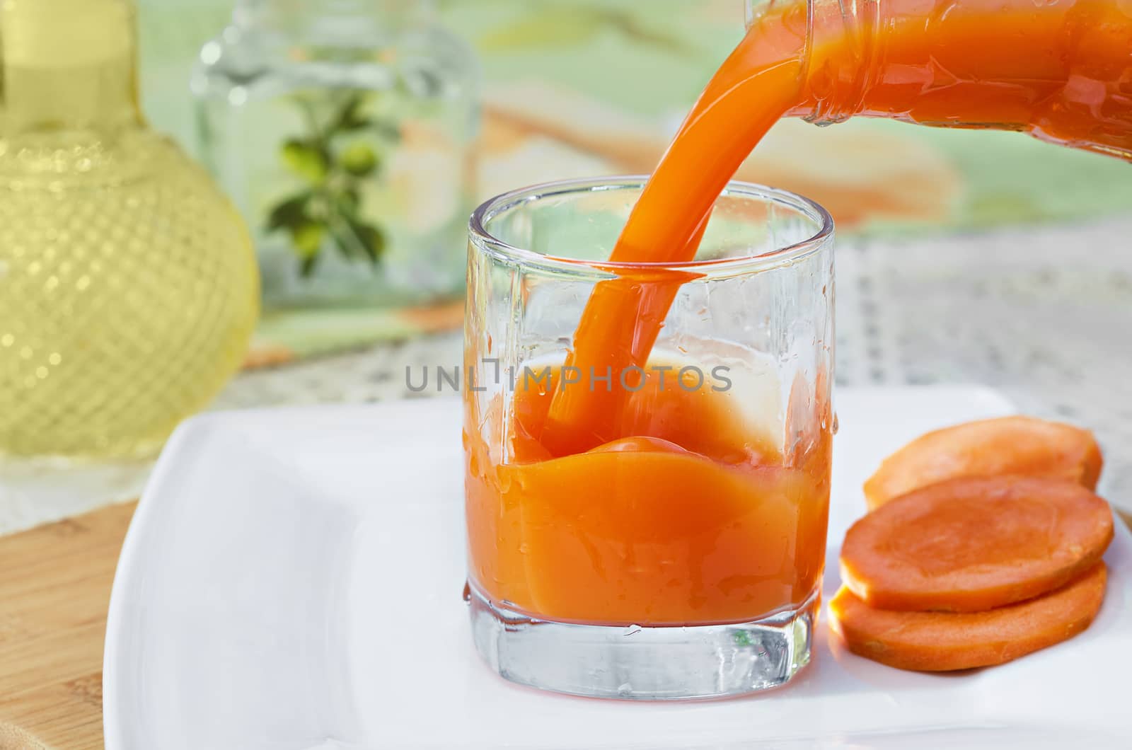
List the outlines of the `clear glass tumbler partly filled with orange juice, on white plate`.
{"label": "clear glass tumbler partly filled with orange juice, on white plate", "polygon": [[[732,182],[694,261],[609,263],[644,182],[542,185],[472,215],[474,642],[504,677],[580,696],[780,685],[809,662],[824,566],[833,223]],[[583,335],[636,326],[636,355],[585,372],[565,363],[594,293],[646,314],[589,319]],[[601,400],[576,450],[544,440],[558,399]]]}

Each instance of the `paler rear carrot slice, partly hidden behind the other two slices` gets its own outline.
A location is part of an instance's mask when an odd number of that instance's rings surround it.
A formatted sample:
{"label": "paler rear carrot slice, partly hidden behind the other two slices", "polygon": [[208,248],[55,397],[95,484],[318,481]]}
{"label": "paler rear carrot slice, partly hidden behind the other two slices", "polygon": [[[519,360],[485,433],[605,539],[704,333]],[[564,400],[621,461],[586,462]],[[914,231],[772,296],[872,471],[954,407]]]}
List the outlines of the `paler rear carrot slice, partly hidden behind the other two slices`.
{"label": "paler rear carrot slice, partly hidden behind the other two slices", "polygon": [[970,421],[928,433],[890,455],[865,483],[876,510],[893,497],[955,477],[1020,474],[1095,489],[1103,459],[1092,433],[1032,417]]}

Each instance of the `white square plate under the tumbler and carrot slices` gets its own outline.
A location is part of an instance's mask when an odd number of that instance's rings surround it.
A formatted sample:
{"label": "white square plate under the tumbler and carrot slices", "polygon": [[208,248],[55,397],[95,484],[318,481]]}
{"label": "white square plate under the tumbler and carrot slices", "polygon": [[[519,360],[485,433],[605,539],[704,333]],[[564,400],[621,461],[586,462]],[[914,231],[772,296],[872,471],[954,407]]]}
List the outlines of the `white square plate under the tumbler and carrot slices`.
{"label": "white square plate under the tumbler and carrot slices", "polygon": [[[842,390],[830,561],[881,459],[1009,414],[972,387]],[[1122,748],[1132,538],[1083,634],[993,670],[929,675],[848,654],[748,698],[632,704],[512,685],[472,649],[460,407],[229,412],[186,424],[134,519],[104,667],[109,750],[338,748]],[[838,586],[837,565],[825,577]]]}

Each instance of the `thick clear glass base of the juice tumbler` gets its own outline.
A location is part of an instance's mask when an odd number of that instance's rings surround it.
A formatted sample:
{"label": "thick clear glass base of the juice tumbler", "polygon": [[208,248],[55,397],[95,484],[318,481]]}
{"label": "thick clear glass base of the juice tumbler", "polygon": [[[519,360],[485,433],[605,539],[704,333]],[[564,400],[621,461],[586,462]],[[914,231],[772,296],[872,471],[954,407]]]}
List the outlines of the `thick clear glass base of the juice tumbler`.
{"label": "thick clear glass base of the juice tumbler", "polygon": [[475,648],[500,676],[532,688],[627,700],[722,698],[786,684],[809,663],[820,607],[727,625],[580,625],[534,620],[470,587]]}

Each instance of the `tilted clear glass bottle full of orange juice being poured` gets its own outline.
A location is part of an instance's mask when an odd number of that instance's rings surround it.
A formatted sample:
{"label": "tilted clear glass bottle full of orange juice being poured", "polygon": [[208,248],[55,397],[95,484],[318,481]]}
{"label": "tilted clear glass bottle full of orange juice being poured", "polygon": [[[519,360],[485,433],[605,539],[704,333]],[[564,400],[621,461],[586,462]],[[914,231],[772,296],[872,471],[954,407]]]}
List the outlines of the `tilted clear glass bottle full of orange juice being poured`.
{"label": "tilted clear glass bottle full of orange juice being poured", "polygon": [[798,40],[789,114],[1019,130],[1132,159],[1127,2],[751,0],[756,24]]}

